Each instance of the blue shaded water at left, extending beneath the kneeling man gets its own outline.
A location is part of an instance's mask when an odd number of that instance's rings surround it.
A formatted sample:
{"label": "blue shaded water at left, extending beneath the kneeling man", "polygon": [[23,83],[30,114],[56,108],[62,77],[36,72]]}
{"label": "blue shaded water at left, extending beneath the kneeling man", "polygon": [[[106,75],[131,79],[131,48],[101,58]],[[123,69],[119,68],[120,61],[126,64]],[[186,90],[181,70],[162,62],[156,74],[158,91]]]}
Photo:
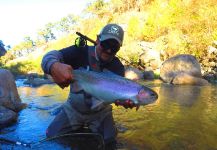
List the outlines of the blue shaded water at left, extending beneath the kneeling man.
{"label": "blue shaded water at left, extending beneath the kneeling man", "polygon": [[[16,124],[0,131],[0,150],[101,150],[104,141],[98,134],[70,133],[48,139],[45,137],[46,128],[66,100],[68,90],[54,85],[39,88],[19,86],[20,97],[28,107],[19,113]],[[16,141],[23,145],[15,145],[13,142]]]}

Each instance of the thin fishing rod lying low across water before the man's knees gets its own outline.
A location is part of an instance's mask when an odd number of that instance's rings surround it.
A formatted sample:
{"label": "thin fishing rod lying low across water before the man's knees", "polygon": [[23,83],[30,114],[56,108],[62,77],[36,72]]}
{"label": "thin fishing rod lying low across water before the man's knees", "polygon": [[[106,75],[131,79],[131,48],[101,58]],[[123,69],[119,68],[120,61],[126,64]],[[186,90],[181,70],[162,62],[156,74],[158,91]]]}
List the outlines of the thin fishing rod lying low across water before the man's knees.
{"label": "thin fishing rod lying low across water before the man's knees", "polygon": [[76,137],[76,136],[77,137],[79,137],[79,136],[95,136],[95,137],[97,137],[97,140],[101,142],[98,145],[98,149],[99,150],[105,149],[104,139],[103,139],[102,135],[99,133],[66,133],[66,134],[56,135],[56,136],[53,136],[50,138],[44,138],[40,141],[32,142],[32,143],[14,141],[14,140],[9,140],[9,139],[0,137],[0,143],[12,144],[12,145],[17,145],[17,146],[24,146],[24,147],[32,148],[32,147],[37,146],[37,145],[39,145],[43,142],[46,142],[46,141],[52,141],[52,140],[56,140],[56,139],[63,138],[63,137]]}

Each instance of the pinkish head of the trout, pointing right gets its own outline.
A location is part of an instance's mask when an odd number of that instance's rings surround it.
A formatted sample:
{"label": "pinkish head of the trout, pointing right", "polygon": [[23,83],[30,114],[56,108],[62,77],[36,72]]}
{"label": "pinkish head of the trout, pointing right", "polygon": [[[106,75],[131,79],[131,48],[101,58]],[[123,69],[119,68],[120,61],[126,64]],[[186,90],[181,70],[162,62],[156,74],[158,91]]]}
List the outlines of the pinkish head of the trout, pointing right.
{"label": "pinkish head of the trout, pointing right", "polygon": [[136,96],[137,105],[147,105],[155,102],[158,99],[158,94],[152,89],[142,86]]}

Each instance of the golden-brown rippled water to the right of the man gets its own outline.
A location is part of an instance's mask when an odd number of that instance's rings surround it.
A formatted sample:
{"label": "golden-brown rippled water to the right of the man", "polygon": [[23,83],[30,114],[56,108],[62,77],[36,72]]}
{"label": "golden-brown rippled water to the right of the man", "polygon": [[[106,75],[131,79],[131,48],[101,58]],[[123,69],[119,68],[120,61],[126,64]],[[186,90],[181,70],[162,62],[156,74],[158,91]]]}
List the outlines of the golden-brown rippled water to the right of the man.
{"label": "golden-brown rippled water to the right of the man", "polygon": [[156,103],[115,109],[115,120],[128,129],[119,138],[132,149],[217,149],[217,86],[154,85]]}

